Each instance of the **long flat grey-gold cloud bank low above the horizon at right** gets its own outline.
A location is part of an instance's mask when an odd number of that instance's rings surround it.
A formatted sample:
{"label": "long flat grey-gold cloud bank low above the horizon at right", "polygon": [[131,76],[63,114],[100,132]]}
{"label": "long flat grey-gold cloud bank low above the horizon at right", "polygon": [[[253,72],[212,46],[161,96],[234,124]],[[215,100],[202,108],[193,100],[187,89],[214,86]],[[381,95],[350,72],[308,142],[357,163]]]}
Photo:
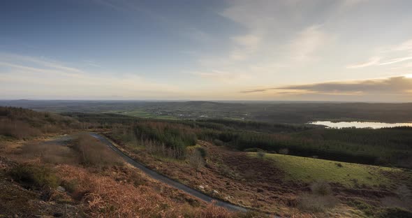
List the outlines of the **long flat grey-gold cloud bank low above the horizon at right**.
{"label": "long flat grey-gold cloud bank low above the horizon at right", "polygon": [[334,94],[334,95],[406,95],[411,92],[412,78],[406,76],[376,79],[376,80],[359,80],[352,82],[323,82],[308,85],[289,85],[284,87],[272,87],[266,89],[252,89],[242,91],[242,93],[257,92],[274,92],[279,94],[316,93],[316,94]]}

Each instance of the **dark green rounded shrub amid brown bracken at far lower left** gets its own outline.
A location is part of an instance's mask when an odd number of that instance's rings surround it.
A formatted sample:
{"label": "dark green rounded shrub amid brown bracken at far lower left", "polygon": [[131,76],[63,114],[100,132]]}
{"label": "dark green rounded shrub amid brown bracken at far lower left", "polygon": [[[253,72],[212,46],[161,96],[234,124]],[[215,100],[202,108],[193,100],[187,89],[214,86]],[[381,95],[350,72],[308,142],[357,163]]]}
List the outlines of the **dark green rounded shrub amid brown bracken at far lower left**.
{"label": "dark green rounded shrub amid brown bracken at far lower left", "polygon": [[19,165],[9,172],[13,180],[36,189],[56,188],[59,178],[44,166]]}

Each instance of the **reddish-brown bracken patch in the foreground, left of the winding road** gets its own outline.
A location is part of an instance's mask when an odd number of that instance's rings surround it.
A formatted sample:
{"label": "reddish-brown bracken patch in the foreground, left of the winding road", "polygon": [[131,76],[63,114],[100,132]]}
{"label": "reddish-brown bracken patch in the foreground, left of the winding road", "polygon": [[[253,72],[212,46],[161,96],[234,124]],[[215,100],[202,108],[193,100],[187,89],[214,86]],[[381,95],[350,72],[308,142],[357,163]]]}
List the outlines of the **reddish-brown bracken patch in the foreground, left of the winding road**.
{"label": "reddish-brown bracken patch in the foreground, left of the winding road", "polygon": [[77,192],[84,194],[89,217],[233,217],[214,205],[193,208],[178,204],[147,186],[116,182],[112,177],[89,173],[84,168],[58,166],[63,180],[77,180]]}

